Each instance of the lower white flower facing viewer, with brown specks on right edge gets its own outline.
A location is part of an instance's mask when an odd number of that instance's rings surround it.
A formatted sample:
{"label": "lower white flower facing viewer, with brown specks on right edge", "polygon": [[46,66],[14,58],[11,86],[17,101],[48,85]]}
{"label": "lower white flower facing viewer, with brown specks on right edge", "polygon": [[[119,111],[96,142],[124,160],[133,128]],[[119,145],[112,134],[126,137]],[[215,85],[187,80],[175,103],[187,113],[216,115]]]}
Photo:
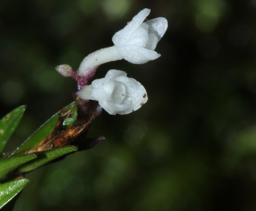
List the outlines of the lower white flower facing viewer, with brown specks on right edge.
{"label": "lower white flower facing viewer, with brown specks on right edge", "polygon": [[147,102],[145,88],[121,70],[109,70],[105,78],[84,86],[77,95],[86,100],[97,100],[109,114],[125,115],[141,108]]}

